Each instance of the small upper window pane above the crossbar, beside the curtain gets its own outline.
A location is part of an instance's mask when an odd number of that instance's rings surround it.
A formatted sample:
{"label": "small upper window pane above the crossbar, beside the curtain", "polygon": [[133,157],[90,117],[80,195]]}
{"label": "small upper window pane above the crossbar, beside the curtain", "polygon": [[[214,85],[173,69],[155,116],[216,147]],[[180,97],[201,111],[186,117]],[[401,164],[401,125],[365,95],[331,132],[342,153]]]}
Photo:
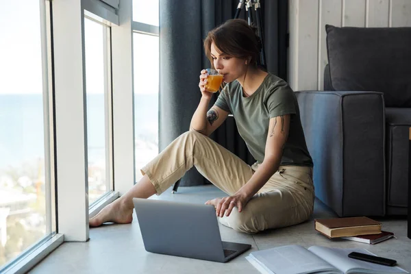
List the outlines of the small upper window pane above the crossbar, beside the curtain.
{"label": "small upper window pane above the crossbar, beside the curtain", "polygon": [[159,0],[133,0],[133,21],[158,26],[158,2]]}

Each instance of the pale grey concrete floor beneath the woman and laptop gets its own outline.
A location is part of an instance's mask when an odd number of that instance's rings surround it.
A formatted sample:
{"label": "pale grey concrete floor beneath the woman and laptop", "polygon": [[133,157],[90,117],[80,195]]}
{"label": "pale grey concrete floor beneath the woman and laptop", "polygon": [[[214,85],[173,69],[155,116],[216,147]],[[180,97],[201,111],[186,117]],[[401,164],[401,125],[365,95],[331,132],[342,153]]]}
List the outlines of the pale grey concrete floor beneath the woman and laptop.
{"label": "pale grey concrete floor beneath the woman and laptop", "polygon": [[[171,194],[170,189],[153,199],[204,203],[208,199],[224,196],[221,190],[209,185],[180,187],[175,195]],[[377,256],[397,260],[398,266],[411,272],[411,240],[407,238],[405,219],[377,219],[382,221],[383,229],[394,232],[397,239],[367,245],[349,240],[330,240],[314,231],[314,218],[334,216],[320,201],[316,201],[312,218],[300,225],[254,235],[242,234],[220,225],[222,240],[252,245],[246,253],[223,264],[145,251],[134,215],[131,225],[103,225],[90,229],[88,242],[64,242],[29,273],[259,273],[245,256],[252,251],[292,244],[364,248]]]}

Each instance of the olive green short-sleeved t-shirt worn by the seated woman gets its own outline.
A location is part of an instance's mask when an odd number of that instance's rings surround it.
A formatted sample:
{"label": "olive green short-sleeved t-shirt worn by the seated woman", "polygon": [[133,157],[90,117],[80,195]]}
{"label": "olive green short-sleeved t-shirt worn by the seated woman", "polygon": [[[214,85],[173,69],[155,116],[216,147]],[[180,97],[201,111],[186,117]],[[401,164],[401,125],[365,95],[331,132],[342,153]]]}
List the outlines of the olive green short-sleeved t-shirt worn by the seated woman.
{"label": "olive green short-sleeved t-shirt worn by the seated woman", "polygon": [[233,114],[238,133],[259,163],[264,160],[269,120],[291,114],[281,165],[313,165],[301,126],[297,97],[283,79],[269,73],[250,97],[242,95],[238,81],[231,82],[223,88],[215,105]]}

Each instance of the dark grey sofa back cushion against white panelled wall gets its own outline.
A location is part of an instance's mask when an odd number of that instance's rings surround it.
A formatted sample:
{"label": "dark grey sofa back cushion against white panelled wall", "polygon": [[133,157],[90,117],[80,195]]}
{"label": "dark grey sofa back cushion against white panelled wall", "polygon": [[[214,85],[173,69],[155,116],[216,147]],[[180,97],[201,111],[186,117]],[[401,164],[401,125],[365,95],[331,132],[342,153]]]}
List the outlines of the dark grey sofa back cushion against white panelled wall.
{"label": "dark grey sofa back cushion against white panelled wall", "polygon": [[334,90],[380,91],[387,107],[411,107],[411,27],[325,30]]}

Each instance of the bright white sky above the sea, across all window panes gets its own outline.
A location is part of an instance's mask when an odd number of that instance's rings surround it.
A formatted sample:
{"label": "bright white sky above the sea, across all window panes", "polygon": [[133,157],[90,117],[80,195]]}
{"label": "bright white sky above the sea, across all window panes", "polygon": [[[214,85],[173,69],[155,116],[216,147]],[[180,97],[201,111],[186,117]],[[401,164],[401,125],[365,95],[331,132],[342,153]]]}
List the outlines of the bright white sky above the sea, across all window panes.
{"label": "bright white sky above the sea, across all window panes", "polygon": [[[158,26],[158,1],[133,0],[133,19]],[[86,90],[102,94],[103,31],[85,19]],[[0,9],[0,95],[41,94],[42,56],[38,0],[2,1]],[[134,34],[134,92],[158,92],[158,37]]]}

